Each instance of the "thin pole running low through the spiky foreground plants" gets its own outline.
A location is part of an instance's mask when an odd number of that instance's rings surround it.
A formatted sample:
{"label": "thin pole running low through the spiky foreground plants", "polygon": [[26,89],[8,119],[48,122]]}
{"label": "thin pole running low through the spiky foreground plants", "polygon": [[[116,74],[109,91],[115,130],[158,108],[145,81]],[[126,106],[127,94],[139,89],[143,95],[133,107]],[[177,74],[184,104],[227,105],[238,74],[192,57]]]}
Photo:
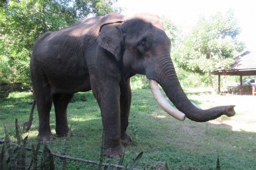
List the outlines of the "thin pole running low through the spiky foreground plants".
{"label": "thin pole running low through the spiky foreground plants", "polygon": [[[5,143],[5,140],[0,139],[0,144],[3,144],[3,143]],[[13,142],[12,142],[12,145],[18,146],[17,143],[13,143]],[[31,147],[25,147],[25,148],[26,148],[26,150],[32,151]],[[41,152],[41,153],[43,152],[42,150],[38,150],[38,151]],[[82,159],[82,158],[78,158],[78,157],[62,155],[62,154],[58,154],[58,153],[51,153],[51,155],[56,156],[56,157],[60,157],[62,159],[70,159],[70,160],[75,160],[75,161],[81,161],[81,162],[85,162],[85,163],[100,165],[99,162],[93,161],[93,160],[87,160],[87,159]],[[122,165],[119,165],[119,164],[112,164],[112,163],[105,163],[105,162],[102,162],[101,165],[104,165],[104,166],[109,166],[110,165],[111,167],[120,168],[120,169],[125,167],[125,166],[122,166]],[[129,168],[129,167],[126,167],[126,168]],[[133,170],[142,170],[142,169],[133,168]]]}

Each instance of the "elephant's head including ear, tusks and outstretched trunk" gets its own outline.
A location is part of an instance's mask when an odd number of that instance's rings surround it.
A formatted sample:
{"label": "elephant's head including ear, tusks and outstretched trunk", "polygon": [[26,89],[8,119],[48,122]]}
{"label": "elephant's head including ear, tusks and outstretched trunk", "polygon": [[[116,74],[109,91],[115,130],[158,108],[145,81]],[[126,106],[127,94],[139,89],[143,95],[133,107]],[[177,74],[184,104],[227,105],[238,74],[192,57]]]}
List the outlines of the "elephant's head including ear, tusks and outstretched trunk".
{"label": "elephant's head including ear, tusks and outstretched trunk", "polygon": [[[234,105],[201,109],[188,99],[177,78],[170,57],[171,42],[159,17],[137,15],[103,24],[97,42],[113,54],[125,78],[145,74],[157,102],[175,118],[184,120],[186,116],[194,121],[208,121],[222,114],[235,114]],[[177,109],[164,99],[157,83]]]}

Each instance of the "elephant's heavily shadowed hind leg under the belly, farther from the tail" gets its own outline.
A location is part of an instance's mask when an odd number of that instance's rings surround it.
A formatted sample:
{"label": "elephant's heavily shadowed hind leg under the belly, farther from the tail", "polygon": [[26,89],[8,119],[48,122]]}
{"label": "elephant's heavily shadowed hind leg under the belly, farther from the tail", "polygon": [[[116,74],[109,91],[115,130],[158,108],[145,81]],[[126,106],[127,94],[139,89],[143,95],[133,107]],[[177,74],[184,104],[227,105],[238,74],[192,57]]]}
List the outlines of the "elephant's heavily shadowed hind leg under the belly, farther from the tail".
{"label": "elephant's heavily shadowed hind leg under the belly, farther from the tail", "polygon": [[[73,94],[54,94],[53,103],[55,108],[56,116],[56,134],[58,136],[66,136],[69,131],[68,120],[67,120],[67,106]],[[71,135],[74,135],[71,132]]]}

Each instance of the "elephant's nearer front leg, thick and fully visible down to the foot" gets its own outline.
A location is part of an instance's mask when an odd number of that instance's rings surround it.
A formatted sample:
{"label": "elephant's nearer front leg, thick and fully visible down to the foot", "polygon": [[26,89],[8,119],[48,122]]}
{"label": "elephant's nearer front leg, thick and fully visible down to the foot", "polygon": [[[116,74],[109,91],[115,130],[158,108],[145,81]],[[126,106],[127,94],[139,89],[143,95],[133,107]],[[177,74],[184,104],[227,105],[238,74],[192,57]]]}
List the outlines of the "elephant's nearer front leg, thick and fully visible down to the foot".
{"label": "elephant's nearer front leg, thick and fully visible down to the foot", "polygon": [[124,147],[121,144],[120,127],[120,88],[118,82],[94,80],[91,87],[101,110],[104,128],[104,155],[121,155]]}

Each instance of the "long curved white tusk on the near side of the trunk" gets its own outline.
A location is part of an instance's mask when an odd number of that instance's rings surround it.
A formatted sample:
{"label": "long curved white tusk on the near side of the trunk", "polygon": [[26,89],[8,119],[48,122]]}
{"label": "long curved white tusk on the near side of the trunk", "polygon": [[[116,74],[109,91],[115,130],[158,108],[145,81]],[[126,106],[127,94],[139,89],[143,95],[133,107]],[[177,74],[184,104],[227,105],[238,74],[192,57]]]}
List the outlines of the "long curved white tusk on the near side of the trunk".
{"label": "long curved white tusk on the near side of the trunk", "polygon": [[165,100],[164,96],[162,95],[159,89],[157,81],[150,79],[149,82],[151,91],[155,99],[157,100],[157,103],[174,118],[177,118],[178,120],[184,120],[186,118],[186,115],[178,109],[174,108],[169,102]]}

